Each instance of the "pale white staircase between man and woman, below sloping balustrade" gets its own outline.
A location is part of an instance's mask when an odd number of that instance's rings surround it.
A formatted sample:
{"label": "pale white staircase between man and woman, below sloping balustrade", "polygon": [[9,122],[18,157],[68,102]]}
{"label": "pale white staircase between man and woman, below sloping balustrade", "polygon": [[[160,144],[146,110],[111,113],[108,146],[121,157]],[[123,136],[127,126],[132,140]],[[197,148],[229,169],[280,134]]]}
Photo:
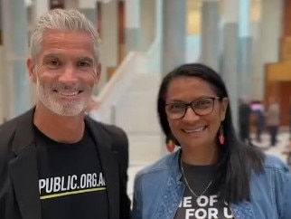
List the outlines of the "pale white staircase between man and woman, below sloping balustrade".
{"label": "pale white staircase between man and woman, below sloping balustrade", "polygon": [[153,163],[160,158],[164,139],[156,112],[160,76],[137,73],[132,77],[115,110],[115,124],[127,132],[131,166]]}

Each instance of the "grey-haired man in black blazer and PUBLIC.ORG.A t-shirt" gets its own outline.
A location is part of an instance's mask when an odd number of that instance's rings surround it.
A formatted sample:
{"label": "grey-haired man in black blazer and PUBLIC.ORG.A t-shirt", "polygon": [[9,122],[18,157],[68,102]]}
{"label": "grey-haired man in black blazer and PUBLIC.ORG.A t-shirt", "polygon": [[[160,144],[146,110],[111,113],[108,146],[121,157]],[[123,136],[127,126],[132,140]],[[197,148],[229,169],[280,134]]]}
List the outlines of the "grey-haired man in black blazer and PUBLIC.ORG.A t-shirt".
{"label": "grey-haired man in black blazer and PUBLIC.ORG.A t-shirt", "polygon": [[127,136],[85,116],[99,36],[76,10],[44,14],[27,67],[35,108],[0,128],[1,219],[128,219]]}

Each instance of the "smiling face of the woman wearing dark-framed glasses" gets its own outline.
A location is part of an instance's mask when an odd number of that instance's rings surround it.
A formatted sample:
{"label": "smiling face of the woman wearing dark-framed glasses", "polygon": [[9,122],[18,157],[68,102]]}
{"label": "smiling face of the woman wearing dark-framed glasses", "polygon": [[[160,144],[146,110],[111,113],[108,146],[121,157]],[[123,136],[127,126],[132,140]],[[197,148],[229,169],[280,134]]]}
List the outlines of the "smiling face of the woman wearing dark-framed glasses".
{"label": "smiling face of the woman wearing dark-framed glasses", "polygon": [[[214,98],[218,98],[218,95],[211,85],[198,77],[176,78],[169,83],[165,110],[170,129],[182,147],[215,147],[221,121],[225,119],[228,100]],[[184,111],[184,103],[191,102],[192,107],[186,108],[181,119],[173,119],[179,112]]]}

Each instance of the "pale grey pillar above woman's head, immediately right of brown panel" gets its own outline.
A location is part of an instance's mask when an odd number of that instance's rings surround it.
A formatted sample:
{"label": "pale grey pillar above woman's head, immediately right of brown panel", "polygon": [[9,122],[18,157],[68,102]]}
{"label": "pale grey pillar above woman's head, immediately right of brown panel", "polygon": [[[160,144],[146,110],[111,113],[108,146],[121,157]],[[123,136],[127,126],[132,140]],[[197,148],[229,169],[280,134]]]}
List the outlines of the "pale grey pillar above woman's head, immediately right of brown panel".
{"label": "pale grey pillar above woman's head, immediately right of brown panel", "polygon": [[219,70],[219,0],[202,0],[202,54],[201,61]]}

